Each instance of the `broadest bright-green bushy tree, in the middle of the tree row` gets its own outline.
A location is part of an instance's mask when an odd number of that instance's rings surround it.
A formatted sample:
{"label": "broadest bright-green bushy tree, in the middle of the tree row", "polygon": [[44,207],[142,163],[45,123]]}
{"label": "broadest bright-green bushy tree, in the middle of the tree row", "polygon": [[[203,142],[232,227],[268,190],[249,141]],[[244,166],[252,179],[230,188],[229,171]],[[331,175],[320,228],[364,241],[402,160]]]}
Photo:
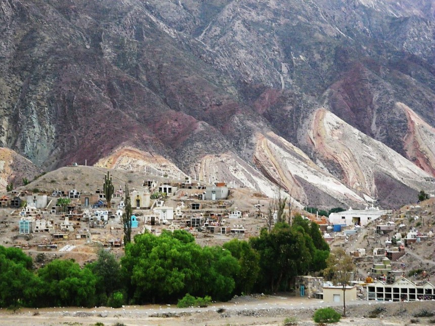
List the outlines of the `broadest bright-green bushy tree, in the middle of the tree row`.
{"label": "broadest bright-green bushy tree, in the middle of the tree row", "polygon": [[186,295],[231,297],[239,264],[222,247],[201,248],[186,231],[137,235],[125,246],[122,275],[137,303],[171,302]]}

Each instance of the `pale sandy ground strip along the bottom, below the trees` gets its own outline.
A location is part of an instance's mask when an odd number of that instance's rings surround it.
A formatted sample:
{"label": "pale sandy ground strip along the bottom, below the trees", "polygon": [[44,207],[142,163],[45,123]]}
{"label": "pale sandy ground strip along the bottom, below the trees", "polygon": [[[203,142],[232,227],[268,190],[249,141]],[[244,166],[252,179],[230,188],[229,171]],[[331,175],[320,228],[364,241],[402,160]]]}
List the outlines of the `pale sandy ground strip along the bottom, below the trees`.
{"label": "pale sandy ground strip along the bottom, below the trees", "polygon": [[[126,306],[120,309],[99,307],[26,309],[17,313],[0,309],[0,324],[8,325],[282,325],[286,317],[295,316],[298,325],[315,325],[314,311],[330,306],[321,300],[288,296],[240,297],[231,302],[216,303],[207,308],[179,309],[170,305]],[[341,304],[335,306],[341,311]],[[377,318],[370,318],[379,308]],[[414,315],[422,309],[435,312],[435,302],[351,302],[347,317],[337,325],[406,325],[430,324],[435,317]],[[433,321],[435,322],[435,321]]]}

